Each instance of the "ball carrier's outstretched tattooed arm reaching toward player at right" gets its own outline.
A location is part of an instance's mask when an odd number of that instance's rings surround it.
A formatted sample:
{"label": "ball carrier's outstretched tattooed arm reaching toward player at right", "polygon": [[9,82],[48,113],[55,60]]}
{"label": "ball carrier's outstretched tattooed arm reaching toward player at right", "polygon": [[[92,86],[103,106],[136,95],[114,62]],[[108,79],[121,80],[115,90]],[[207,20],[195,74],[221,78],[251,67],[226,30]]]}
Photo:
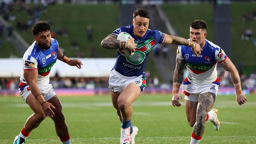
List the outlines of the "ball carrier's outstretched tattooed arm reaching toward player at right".
{"label": "ball carrier's outstretched tattooed arm reaching toward player at right", "polygon": [[201,46],[193,41],[189,41],[183,37],[177,37],[174,35],[168,35],[164,33],[165,35],[165,44],[176,44],[176,45],[184,45],[184,46],[190,46],[193,53],[197,56],[201,54]]}

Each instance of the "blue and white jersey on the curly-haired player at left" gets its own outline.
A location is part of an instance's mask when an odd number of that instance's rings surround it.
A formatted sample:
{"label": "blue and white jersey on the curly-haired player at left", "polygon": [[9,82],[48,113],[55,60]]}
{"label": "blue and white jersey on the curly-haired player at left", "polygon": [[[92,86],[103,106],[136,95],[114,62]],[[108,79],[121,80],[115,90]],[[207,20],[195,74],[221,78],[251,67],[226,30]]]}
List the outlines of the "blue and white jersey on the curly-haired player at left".
{"label": "blue and white jersey on the curly-haired player at left", "polygon": [[[28,48],[23,56],[23,70],[38,70],[37,85],[43,86],[50,82],[50,70],[57,60],[57,51],[59,44],[52,38],[51,46],[48,50],[42,50],[36,42]],[[24,78],[24,71],[20,76],[19,88],[28,85]]]}

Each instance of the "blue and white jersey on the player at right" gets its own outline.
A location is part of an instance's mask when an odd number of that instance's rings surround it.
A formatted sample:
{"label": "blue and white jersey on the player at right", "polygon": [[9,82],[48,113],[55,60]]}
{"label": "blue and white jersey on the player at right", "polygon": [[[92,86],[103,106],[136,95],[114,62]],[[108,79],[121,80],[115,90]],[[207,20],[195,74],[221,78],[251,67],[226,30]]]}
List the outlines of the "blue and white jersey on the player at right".
{"label": "blue and white jersey on the player at right", "polygon": [[205,40],[201,54],[197,57],[189,46],[178,46],[177,57],[185,59],[188,81],[194,85],[212,83],[217,79],[217,62],[221,63],[227,59],[224,51],[212,42]]}

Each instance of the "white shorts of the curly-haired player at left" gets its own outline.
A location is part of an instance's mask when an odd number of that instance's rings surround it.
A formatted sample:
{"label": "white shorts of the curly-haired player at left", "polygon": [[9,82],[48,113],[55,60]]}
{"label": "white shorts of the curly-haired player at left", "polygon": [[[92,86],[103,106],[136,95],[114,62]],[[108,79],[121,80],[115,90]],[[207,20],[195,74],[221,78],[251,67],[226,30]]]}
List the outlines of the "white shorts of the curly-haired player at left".
{"label": "white shorts of the curly-haired player at left", "polygon": [[[54,97],[56,95],[51,83],[48,83],[45,86],[38,86],[38,88],[42,92],[46,101],[50,100],[52,97]],[[26,102],[28,95],[31,94],[29,85],[26,83],[20,83],[19,94],[23,98],[23,100]]]}

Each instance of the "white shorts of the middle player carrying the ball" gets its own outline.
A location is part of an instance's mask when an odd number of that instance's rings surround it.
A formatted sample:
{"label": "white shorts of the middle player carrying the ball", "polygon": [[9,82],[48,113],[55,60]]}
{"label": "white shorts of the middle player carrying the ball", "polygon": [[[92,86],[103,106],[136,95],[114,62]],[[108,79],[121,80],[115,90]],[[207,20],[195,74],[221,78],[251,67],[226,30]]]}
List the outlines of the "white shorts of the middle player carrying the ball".
{"label": "white shorts of the middle player carrying the ball", "polygon": [[141,91],[143,91],[146,87],[146,77],[145,72],[141,74],[140,76],[123,76],[119,74],[114,68],[111,71],[111,74],[109,76],[109,90],[113,92],[122,92],[124,90],[124,87],[130,83],[137,83],[139,87],[141,88]]}

